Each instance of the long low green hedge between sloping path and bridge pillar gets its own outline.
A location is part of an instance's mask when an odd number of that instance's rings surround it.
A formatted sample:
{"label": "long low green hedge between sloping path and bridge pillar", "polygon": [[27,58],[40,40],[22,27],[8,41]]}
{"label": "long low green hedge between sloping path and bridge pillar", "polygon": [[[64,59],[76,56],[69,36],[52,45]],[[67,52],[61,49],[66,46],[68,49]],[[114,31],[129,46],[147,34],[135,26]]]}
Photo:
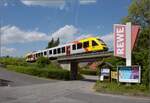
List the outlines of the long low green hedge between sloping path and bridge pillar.
{"label": "long low green hedge between sloping path and bridge pillar", "polygon": [[70,80],[70,72],[63,69],[39,69],[14,65],[7,65],[7,69],[39,77]]}

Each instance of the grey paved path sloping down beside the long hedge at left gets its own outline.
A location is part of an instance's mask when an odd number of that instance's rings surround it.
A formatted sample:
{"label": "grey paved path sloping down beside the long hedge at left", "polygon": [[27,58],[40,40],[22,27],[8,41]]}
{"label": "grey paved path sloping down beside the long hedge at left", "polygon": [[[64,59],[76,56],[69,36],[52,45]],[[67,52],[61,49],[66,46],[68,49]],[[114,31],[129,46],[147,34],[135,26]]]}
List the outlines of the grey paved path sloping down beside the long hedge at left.
{"label": "grey paved path sloping down beside the long hedge at left", "polygon": [[22,73],[8,71],[0,67],[0,79],[9,80],[10,86],[25,86],[34,84],[43,84],[57,82],[57,80],[43,79],[35,76],[30,76]]}

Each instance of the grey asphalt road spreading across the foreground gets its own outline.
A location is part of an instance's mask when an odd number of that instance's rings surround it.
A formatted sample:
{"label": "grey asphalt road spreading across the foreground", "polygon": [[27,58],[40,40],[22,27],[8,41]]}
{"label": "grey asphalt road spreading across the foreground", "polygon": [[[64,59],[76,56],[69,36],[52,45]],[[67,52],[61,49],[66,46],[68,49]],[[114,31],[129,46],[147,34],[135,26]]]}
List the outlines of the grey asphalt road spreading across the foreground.
{"label": "grey asphalt road spreading across the foreground", "polygon": [[[1,70],[3,69],[0,69],[0,74]],[[17,75],[22,75],[15,74],[16,78]],[[0,103],[150,103],[148,98],[96,93],[92,89],[93,81],[55,81],[22,76],[30,78],[29,82],[26,79],[28,85],[0,87]],[[38,81],[36,83],[35,78]],[[24,81],[24,78],[19,80]]]}

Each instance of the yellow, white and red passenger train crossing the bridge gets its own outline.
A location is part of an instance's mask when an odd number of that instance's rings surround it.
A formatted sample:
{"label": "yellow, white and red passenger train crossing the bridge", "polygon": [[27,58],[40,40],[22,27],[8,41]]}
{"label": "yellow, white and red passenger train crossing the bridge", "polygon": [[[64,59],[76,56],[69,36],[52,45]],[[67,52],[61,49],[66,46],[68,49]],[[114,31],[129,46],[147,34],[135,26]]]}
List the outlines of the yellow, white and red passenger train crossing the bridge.
{"label": "yellow, white and red passenger train crossing the bridge", "polygon": [[60,56],[71,56],[102,51],[108,51],[108,47],[104,41],[98,37],[88,37],[53,48],[28,53],[25,58],[27,62],[34,62],[41,56],[47,58],[58,58]]}

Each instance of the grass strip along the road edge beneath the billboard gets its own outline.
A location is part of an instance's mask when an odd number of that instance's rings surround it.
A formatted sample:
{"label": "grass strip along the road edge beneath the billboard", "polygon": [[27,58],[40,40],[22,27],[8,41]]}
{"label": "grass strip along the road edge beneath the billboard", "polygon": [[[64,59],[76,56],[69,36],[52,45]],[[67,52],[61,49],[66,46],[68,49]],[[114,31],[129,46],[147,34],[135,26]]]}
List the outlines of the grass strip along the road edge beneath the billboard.
{"label": "grass strip along the road edge beneath the billboard", "polygon": [[143,84],[118,84],[116,82],[100,82],[97,81],[94,89],[97,92],[132,95],[132,96],[150,96],[150,90]]}

